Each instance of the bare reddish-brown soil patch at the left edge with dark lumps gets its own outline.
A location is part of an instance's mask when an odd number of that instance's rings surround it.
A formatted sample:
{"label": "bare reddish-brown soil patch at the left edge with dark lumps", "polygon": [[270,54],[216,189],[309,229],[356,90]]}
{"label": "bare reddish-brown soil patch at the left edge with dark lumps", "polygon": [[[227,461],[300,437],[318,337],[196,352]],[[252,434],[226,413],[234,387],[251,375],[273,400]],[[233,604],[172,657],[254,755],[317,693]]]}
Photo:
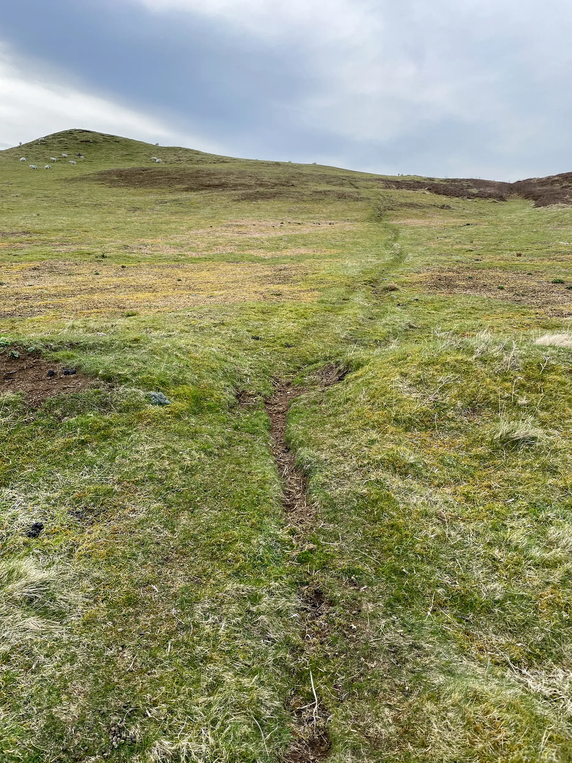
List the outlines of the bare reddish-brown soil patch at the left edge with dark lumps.
{"label": "bare reddish-brown soil patch at the left edge with dark lumps", "polygon": [[[10,357],[11,351],[19,357]],[[44,360],[21,347],[10,347],[0,353],[0,394],[21,392],[32,407],[37,407],[47,398],[79,392],[93,384],[92,379],[80,371],[64,375],[65,368],[73,369],[73,366]],[[48,376],[50,370],[53,376]]]}

